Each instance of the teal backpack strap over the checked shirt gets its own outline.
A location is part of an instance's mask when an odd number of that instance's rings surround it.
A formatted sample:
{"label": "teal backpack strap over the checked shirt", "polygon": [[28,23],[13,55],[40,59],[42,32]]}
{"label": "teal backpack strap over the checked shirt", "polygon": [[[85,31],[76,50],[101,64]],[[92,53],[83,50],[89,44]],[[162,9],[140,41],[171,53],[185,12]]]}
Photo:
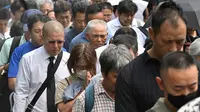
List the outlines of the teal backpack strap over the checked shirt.
{"label": "teal backpack strap over the checked shirt", "polygon": [[85,89],[85,112],[91,112],[94,106],[94,85]]}

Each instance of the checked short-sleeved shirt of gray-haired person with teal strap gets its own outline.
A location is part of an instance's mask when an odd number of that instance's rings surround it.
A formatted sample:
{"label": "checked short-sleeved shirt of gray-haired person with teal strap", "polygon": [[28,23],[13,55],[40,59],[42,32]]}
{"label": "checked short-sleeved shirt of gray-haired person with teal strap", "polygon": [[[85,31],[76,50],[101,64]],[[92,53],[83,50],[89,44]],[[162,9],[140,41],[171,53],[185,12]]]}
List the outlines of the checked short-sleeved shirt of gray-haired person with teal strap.
{"label": "checked short-sleeved shirt of gray-haired person with teal strap", "polygon": [[[72,112],[85,112],[85,91],[76,99]],[[115,101],[105,91],[101,81],[94,85],[94,106],[91,112],[115,112]]]}

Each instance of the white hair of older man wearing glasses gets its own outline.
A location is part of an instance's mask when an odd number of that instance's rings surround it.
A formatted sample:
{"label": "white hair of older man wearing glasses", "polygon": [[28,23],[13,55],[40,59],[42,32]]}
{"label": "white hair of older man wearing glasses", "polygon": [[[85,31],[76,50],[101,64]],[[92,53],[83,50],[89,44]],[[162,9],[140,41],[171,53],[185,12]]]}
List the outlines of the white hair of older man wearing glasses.
{"label": "white hair of older man wearing glasses", "polygon": [[106,24],[105,21],[100,20],[100,19],[93,19],[93,20],[91,20],[91,21],[88,22],[85,31],[86,31],[86,32],[89,32],[89,31],[90,31],[91,29],[93,29],[97,24],[101,24],[101,25],[105,26],[106,31],[108,30],[107,24]]}

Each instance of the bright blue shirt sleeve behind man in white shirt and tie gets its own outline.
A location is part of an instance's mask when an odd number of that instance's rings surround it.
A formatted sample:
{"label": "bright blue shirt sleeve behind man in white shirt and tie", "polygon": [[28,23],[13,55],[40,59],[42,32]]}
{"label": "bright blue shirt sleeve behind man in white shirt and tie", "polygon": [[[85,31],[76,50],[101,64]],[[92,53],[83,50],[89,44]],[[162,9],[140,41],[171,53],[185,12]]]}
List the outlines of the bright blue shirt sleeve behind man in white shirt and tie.
{"label": "bright blue shirt sleeve behind man in white shirt and tie", "polygon": [[9,64],[9,70],[8,70],[8,77],[9,78],[16,78],[18,68],[19,68],[19,62],[21,59],[21,54],[17,52],[18,48],[15,49],[12,53],[12,56],[10,58],[10,64]]}

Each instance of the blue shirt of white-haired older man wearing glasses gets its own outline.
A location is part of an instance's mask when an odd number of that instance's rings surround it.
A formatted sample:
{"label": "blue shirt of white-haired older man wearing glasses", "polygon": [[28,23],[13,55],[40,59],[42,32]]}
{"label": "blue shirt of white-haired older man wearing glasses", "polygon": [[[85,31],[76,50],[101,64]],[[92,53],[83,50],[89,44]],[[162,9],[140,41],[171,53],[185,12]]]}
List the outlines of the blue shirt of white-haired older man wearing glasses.
{"label": "blue shirt of white-haired older man wearing glasses", "polygon": [[[86,30],[84,29],[83,32],[79,33],[76,37],[74,37],[69,46],[69,52],[74,48],[74,46],[80,43],[89,43],[89,41],[85,37]],[[109,40],[112,38],[111,33],[108,31],[108,37],[105,44],[109,44]]]}

